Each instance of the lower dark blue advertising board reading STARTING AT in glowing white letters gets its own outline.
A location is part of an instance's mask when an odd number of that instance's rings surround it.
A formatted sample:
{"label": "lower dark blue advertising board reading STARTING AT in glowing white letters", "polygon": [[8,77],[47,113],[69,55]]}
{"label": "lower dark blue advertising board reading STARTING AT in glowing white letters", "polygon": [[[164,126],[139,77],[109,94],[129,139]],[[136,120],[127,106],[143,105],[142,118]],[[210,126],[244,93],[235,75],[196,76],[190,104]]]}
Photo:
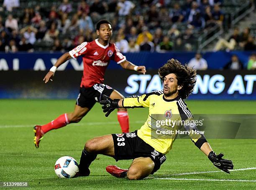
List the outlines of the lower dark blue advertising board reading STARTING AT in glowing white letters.
{"label": "lower dark blue advertising board reading STARTING AT in glowing white letters", "polygon": [[[82,71],[58,71],[54,81],[44,84],[47,71],[0,71],[2,99],[76,99]],[[255,71],[197,71],[197,82],[189,99],[256,100]],[[145,75],[135,71],[107,70],[105,84],[124,96],[162,90],[157,70]]]}

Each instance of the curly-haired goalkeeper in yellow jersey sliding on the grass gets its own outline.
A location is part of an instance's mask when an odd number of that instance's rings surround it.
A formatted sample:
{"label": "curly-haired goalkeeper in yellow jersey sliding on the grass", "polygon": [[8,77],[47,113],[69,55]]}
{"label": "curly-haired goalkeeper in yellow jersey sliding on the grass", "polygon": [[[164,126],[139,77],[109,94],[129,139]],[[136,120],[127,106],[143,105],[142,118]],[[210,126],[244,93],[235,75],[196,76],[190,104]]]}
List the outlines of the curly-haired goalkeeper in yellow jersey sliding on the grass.
{"label": "curly-haired goalkeeper in yellow jersey sliding on the grass", "polygon": [[[141,129],[135,132],[109,134],[87,141],[82,151],[78,176],[90,175],[89,166],[96,159],[97,154],[113,157],[116,161],[133,159],[128,170],[113,165],[106,167],[107,172],[115,177],[139,180],[153,174],[166,160],[165,155],[172,149],[177,137],[175,133],[163,132],[166,128],[172,129],[170,131],[179,129],[178,121],[184,121],[183,127],[185,131],[190,132],[188,134],[192,142],[207,155],[215,167],[227,173],[230,173],[229,170],[233,170],[232,161],[223,159],[222,153],[216,155],[205,137],[196,133],[199,132],[197,127],[192,126],[193,116],[183,99],[187,99],[193,91],[196,71],[171,59],[159,68],[159,77],[163,82],[163,91],[153,91],[142,96],[114,100],[105,96],[105,101],[100,101],[103,111],[106,112],[106,117],[118,108],[148,107],[148,119]],[[155,123],[158,119],[156,117],[161,115],[176,121],[176,123],[174,122],[171,127],[163,124],[157,128]],[[157,134],[160,135],[157,136]]]}

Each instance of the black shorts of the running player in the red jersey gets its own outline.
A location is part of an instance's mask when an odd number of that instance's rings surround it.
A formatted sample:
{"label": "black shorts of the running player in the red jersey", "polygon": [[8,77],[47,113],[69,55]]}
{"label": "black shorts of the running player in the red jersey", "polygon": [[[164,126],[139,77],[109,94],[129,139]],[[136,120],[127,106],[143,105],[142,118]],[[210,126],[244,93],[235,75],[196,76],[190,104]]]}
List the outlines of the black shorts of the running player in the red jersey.
{"label": "black shorts of the running player in the red jersey", "polygon": [[95,84],[90,88],[81,87],[76,104],[82,108],[87,107],[91,109],[96,102],[102,100],[103,94],[110,96],[113,91],[114,89],[106,84]]}

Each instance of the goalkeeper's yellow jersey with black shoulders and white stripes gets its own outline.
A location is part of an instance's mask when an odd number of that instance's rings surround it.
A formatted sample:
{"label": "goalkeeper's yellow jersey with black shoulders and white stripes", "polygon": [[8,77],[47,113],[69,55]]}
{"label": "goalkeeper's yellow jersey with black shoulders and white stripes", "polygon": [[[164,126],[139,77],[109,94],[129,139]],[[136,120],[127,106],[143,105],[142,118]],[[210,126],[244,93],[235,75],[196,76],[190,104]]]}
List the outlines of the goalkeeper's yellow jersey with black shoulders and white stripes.
{"label": "goalkeeper's yellow jersey with black shoulders and white stripes", "polygon": [[[152,134],[155,134],[156,130],[152,127],[151,122],[156,122],[157,116],[164,116],[171,120],[185,121],[187,119],[193,119],[193,116],[187,104],[178,96],[175,99],[164,98],[163,91],[152,91],[148,94],[143,94],[141,96],[131,96],[123,99],[123,107],[125,108],[138,108],[138,107],[149,107],[148,119],[143,124],[141,129],[138,130],[138,137],[143,139],[144,142],[149,144],[151,147],[156,149],[156,151],[163,154],[167,154],[177,134],[171,134],[168,138],[154,138]],[[154,124],[155,125],[155,124]],[[179,125],[180,126],[180,125]],[[169,127],[169,126],[168,126]],[[172,129],[178,129],[179,127],[173,126]],[[153,133],[152,133],[153,130]],[[189,135],[192,142],[195,143],[197,147],[201,147],[203,142],[207,142],[203,135]],[[201,138],[200,144],[196,144],[197,140]],[[199,142],[198,142],[199,143]]]}

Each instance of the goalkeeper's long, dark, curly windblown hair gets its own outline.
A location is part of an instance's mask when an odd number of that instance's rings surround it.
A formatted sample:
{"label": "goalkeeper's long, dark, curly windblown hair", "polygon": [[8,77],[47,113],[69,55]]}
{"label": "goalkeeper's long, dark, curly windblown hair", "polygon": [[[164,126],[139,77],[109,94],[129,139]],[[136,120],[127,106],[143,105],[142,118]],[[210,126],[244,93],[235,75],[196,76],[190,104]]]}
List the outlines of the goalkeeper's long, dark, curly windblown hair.
{"label": "goalkeeper's long, dark, curly windblown hair", "polygon": [[170,73],[176,75],[178,85],[182,86],[182,89],[179,90],[179,96],[181,96],[182,99],[187,99],[195,86],[197,72],[187,65],[183,66],[178,60],[171,59],[158,70],[162,82],[164,82],[164,77]]}

